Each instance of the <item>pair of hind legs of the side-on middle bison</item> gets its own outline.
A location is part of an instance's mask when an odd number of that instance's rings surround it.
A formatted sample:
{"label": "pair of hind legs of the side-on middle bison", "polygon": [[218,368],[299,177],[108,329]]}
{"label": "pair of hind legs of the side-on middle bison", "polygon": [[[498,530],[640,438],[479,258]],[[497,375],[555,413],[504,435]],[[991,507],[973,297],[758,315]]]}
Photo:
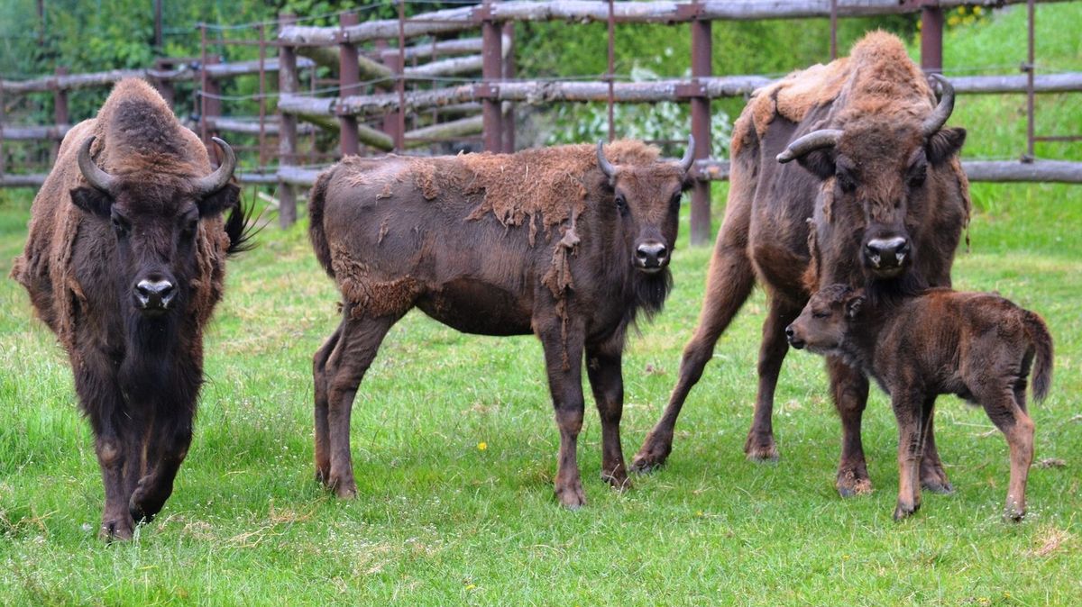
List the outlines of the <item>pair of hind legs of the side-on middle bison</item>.
{"label": "pair of hind legs of the side-on middle bison", "polygon": [[[346,311],[349,314],[349,311]],[[330,475],[327,487],[340,498],[357,495],[349,456],[349,414],[357,388],[375,359],[380,343],[401,314],[370,319],[346,318],[338,346],[327,361],[327,437]]]}

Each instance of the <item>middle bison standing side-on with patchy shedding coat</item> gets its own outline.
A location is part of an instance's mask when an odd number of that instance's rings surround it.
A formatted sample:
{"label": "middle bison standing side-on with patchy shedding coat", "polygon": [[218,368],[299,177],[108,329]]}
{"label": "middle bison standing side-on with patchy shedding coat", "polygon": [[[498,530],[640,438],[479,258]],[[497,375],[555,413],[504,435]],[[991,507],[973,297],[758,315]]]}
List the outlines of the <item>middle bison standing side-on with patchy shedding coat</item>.
{"label": "middle bison standing side-on with patchy shedding coat", "polygon": [[625,486],[624,334],[669,293],[690,150],[678,163],[658,162],[637,141],[347,158],[322,173],[308,233],[342,292],[343,316],[313,361],[317,477],[340,497],[356,495],[354,396],[387,331],[415,307],[461,332],[540,338],[559,427],[556,496],[568,508],[585,503],[576,462],[584,350],[602,475]]}

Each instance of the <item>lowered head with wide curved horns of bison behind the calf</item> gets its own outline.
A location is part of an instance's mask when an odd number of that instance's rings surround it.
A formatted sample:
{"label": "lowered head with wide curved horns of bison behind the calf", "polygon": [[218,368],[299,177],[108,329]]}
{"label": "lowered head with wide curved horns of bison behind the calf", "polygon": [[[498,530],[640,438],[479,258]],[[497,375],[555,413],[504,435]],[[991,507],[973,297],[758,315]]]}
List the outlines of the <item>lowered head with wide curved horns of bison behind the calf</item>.
{"label": "lowered head with wide curved horns of bison behind the calf", "polygon": [[954,90],[939,75],[933,77],[942,96],[923,121],[866,117],[845,130],[808,133],[778,154],[779,162],[796,160],[829,181],[823,195],[830,199],[830,215],[842,218],[836,224],[843,232],[820,242],[834,242],[844,255],[859,251],[859,265],[871,280],[898,278],[912,266],[920,253],[920,234],[913,232],[941,195],[942,185],[933,177],[944,174],[965,141],[964,129],[942,127],[954,107]]}

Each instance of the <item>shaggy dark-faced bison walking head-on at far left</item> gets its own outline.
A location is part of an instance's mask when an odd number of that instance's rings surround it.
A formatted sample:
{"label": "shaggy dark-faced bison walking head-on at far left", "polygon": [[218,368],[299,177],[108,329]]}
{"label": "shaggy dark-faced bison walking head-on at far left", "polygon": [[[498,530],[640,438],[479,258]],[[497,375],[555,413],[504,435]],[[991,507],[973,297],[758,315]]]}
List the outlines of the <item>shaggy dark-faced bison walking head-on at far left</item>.
{"label": "shaggy dark-faced bison walking head-on at far left", "polygon": [[245,241],[236,158],[216,141],[225,160],[211,171],[161,96],[121,81],[64,137],[12,270],[71,361],[107,539],[161,510],[192,442],[202,327]]}

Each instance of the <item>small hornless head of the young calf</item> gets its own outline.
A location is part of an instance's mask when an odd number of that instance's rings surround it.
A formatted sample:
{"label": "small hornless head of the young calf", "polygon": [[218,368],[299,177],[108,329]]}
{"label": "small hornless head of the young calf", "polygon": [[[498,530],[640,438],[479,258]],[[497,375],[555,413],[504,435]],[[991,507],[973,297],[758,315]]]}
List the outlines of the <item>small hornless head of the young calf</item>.
{"label": "small hornless head of the young calf", "polygon": [[860,314],[863,304],[862,289],[854,291],[844,284],[823,287],[786,327],[789,345],[817,354],[837,352],[845,342],[849,323]]}

